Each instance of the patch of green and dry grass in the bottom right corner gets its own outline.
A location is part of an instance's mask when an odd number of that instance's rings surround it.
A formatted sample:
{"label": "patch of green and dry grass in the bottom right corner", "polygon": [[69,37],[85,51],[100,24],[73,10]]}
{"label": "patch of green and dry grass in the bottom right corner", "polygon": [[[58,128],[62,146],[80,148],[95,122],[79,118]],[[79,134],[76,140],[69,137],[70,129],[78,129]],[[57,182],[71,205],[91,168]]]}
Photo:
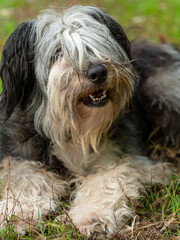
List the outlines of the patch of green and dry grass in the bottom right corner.
{"label": "patch of green and dry grass in the bottom right corner", "polygon": [[[170,184],[153,187],[138,208],[140,222],[135,231],[146,230],[150,239],[180,237],[180,178],[173,177]],[[144,232],[143,232],[144,234]],[[140,238],[141,239],[141,238]]]}

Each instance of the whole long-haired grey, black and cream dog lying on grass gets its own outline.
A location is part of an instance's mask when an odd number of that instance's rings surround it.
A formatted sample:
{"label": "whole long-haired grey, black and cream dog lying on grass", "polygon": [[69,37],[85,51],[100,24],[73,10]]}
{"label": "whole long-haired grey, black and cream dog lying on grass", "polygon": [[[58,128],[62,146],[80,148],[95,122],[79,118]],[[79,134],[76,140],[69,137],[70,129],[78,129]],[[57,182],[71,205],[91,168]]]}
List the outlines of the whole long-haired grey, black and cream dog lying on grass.
{"label": "whole long-haired grey, black and cream dog lying on grass", "polygon": [[146,43],[131,51],[110,16],[75,6],[18,26],[0,74],[1,225],[15,215],[23,231],[27,220],[55,210],[74,176],[81,182],[73,223],[87,236],[111,237],[133,217],[130,202],[144,186],[170,173],[142,147],[158,124],[178,142],[179,52]]}

